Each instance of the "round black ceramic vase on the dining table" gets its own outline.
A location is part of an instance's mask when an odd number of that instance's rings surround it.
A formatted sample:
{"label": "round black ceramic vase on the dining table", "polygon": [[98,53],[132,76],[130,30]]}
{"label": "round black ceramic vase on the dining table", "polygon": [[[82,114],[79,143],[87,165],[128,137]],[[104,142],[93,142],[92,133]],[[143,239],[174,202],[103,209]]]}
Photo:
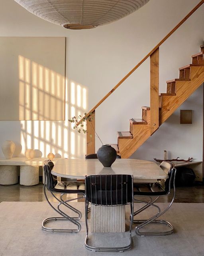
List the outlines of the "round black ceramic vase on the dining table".
{"label": "round black ceramic vase on the dining table", "polygon": [[116,150],[110,145],[103,145],[97,151],[98,160],[104,167],[110,167],[116,160]]}

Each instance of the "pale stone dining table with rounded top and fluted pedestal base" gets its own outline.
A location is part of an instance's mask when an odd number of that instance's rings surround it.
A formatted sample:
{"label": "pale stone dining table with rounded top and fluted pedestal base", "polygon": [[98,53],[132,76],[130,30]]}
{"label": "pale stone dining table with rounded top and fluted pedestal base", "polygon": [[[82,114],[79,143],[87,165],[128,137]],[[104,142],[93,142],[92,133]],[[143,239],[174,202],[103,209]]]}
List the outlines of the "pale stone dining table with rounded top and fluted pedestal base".
{"label": "pale stone dining table with rounded top and fluted pedestal base", "polygon": [[[104,167],[98,159],[58,159],[51,174],[84,180],[88,175],[133,175],[134,183],[153,183],[167,179],[155,162],[137,159],[116,159],[111,167]],[[106,207],[91,205],[91,232],[125,232],[125,206]]]}

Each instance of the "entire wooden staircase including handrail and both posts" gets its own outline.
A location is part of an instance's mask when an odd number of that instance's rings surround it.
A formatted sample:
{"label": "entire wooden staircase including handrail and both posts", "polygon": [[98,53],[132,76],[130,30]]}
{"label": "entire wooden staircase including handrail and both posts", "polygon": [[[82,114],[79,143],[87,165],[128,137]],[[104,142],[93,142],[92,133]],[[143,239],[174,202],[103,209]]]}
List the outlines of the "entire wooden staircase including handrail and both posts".
{"label": "entire wooden staircase including handrail and both posts", "polygon": [[[143,106],[142,119],[129,119],[129,131],[117,132],[118,143],[111,144],[122,158],[129,158],[173,112],[204,82],[204,45],[200,52],[192,55],[192,64],[179,68],[179,78],[167,81],[167,92],[159,94],[159,47],[163,44],[202,4],[201,0],[180,22],[149,52],[104,98],[83,118],[94,117],[87,122],[86,153],[95,153],[96,108],[106,100],[147,58],[150,57],[150,107]],[[80,125],[83,118],[77,123]]]}

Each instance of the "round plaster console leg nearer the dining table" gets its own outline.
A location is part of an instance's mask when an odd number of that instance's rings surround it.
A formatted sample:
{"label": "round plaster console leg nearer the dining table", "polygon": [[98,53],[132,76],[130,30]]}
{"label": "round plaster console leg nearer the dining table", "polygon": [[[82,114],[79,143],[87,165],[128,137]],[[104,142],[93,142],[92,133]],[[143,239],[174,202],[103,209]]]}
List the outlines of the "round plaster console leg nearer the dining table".
{"label": "round plaster console leg nearer the dining table", "polygon": [[39,166],[20,166],[20,185],[34,186],[39,184]]}

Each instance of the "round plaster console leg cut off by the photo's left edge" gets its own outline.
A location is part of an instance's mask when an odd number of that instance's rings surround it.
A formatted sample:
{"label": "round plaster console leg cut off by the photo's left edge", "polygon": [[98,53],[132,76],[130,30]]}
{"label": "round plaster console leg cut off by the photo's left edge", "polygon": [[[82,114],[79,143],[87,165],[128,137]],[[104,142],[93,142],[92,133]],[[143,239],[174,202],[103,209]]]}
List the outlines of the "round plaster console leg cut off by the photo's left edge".
{"label": "round plaster console leg cut off by the photo's left edge", "polygon": [[0,185],[13,185],[18,183],[17,166],[0,166]]}

